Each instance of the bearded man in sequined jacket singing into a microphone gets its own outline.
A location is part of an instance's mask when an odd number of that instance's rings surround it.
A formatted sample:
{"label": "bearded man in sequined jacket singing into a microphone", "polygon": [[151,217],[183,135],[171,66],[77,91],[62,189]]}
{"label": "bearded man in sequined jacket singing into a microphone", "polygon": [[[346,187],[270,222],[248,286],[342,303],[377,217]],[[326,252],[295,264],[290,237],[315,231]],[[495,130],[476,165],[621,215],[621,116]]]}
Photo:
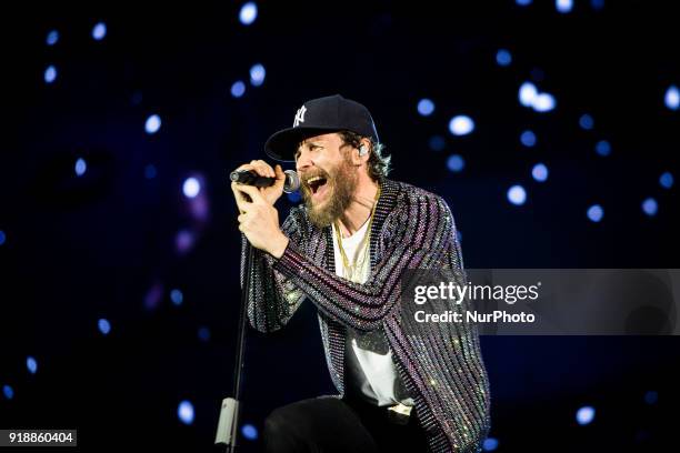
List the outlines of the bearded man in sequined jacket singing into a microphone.
{"label": "bearded man in sequined jacket singing into a microphone", "polygon": [[[409,269],[462,270],[453,217],[422,189],[389,180],[366,107],[340,95],[306,102],[264,145],[294,160],[304,205],[279,226],[284,174],[240,167],[274,185],[232,183],[243,256],[252,245],[248,316],[282,328],[317,305],[339,396],[300,401],[266,420],[268,452],[476,452],[489,430],[489,384],[473,325],[418,323],[401,310]],[[250,244],[250,245],[249,245]]]}

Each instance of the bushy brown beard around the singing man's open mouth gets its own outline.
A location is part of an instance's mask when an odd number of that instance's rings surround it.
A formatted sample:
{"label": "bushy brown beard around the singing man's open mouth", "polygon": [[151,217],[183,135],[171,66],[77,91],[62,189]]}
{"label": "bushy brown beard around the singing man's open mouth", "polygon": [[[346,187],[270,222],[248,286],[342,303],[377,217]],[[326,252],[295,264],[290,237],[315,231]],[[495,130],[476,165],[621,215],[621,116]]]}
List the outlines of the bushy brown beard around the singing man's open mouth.
{"label": "bushy brown beard around the singing man's open mouth", "polygon": [[329,191],[326,200],[321,202],[322,205],[314,205],[312,203],[311,189],[307,184],[302,184],[301,188],[302,199],[304,200],[310,222],[318,228],[324,228],[339,219],[352,202],[358,175],[347,159],[343,159],[342,163],[331,170],[330,173],[318,169],[306,174],[304,178],[308,179],[316,175],[326,178]]}

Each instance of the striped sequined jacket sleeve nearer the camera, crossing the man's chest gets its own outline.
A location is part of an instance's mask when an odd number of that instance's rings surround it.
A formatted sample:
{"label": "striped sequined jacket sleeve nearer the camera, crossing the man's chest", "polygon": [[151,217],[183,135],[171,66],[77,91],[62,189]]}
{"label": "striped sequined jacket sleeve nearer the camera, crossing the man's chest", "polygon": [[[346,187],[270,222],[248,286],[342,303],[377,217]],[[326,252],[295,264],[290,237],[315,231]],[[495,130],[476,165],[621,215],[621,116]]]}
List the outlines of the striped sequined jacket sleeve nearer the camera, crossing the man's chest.
{"label": "striped sequined jacket sleeve nearer the camera, crossing the man's chest", "polygon": [[392,310],[399,310],[404,271],[439,268],[454,234],[451,212],[434,194],[407,194],[396,208],[386,221],[396,222],[396,234],[366,283],[347,281],[314,265],[296,241],[274,260],[273,269],[329,318],[360,331],[378,329]]}

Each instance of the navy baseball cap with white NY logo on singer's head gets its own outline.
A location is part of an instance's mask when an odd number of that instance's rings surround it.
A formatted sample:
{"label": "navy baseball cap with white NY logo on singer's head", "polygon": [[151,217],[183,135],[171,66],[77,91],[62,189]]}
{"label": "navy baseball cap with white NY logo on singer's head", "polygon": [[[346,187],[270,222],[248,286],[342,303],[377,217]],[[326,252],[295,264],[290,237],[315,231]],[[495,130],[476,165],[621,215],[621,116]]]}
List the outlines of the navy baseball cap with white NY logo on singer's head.
{"label": "navy baseball cap with white NY logo on singer's head", "polygon": [[373,119],[359,102],[340,94],[312,99],[298,109],[292,128],[283,129],[267,140],[264,152],[278,161],[294,161],[298,144],[302,140],[342,130],[378,141]]}

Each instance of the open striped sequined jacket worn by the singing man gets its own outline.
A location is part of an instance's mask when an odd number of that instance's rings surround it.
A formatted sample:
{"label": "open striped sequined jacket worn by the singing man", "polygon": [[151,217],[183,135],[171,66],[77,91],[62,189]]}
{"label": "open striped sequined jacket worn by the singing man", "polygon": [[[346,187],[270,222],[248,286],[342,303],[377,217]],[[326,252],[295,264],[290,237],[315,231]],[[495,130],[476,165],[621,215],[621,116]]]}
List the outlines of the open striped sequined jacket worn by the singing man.
{"label": "open striped sequined jacket worn by the singing man", "polygon": [[258,331],[283,326],[304,299],[318,308],[333,384],[343,395],[347,328],[381,330],[397,371],[416,402],[431,452],[477,452],[490,425],[489,383],[474,326],[419,323],[400,311],[407,269],[462,269],[453,217],[447,203],[422,189],[383,180],[370,235],[371,273],[358,284],[334,272],[331,229],[293,208],[282,230],[290,239],[280,259],[253,249],[241,281],[250,279],[248,316]]}

